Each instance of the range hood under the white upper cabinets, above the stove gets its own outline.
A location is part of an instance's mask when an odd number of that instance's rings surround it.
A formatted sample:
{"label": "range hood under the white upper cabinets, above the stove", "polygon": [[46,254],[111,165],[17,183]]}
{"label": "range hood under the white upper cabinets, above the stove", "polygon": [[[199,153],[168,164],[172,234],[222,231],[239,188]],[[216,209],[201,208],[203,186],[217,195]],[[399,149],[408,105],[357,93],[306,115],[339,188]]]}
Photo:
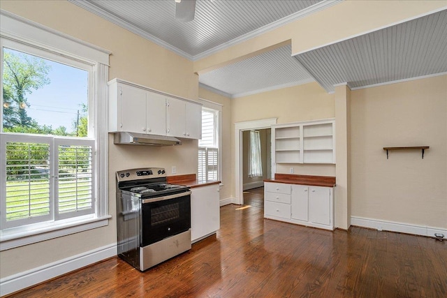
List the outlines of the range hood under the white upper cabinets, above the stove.
{"label": "range hood under the white upper cabinets, above the stove", "polygon": [[174,146],[182,141],[166,135],[147,135],[145,133],[114,133],[114,144],[146,145],[146,146]]}

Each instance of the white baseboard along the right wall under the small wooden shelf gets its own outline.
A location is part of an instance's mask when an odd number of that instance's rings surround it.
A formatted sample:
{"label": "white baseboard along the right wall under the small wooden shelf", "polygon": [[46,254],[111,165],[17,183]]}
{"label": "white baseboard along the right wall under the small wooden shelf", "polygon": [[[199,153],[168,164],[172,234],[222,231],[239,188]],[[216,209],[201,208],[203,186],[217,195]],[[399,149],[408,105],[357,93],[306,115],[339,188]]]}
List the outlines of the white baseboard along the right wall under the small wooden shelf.
{"label": "white baseboard along the right wall under the small wooden shelf", "polygon": [[351,216],[351,225],[358,227],[373,228],[379,231],[401,232],[421,236],[434,237],[434,233],[441,233],[447,237],[447,229],[435,228],[423,225],[412,225],[410,223],[396,223],[393,221],[381,221],[372,218]]}

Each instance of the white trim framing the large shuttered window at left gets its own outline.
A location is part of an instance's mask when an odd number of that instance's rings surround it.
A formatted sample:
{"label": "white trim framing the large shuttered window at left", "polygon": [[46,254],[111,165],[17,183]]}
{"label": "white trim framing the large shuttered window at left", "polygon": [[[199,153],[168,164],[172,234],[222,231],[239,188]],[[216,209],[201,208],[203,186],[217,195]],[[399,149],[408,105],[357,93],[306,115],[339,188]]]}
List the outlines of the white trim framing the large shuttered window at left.
{"label": "white trim framing the large shuttered window at left", "polygon": [[[37,225],[22,229],[0,231],[0,251],[15,248],[38,241],[91,230],[108,225],[108,64],[110,51],[96,45],[91,45],[78,38],[73,38],[41,24],[31,22],[5,10],[0,10],[0,36],[17,43],[31,45],[47,52],[52,52],[69,59],[78,59],[94,66],[94,77],[91,82],[94,87],[94,105],[89,108],[95,113],[93,126],[95,134],[97,172],[101,175],[96,180],[97,200],[96,216],[85,216],[76,220],[65,220],[60,223]],[[1,84],[0,84],[1,85]],[[1,87],[3,88],[3,87]],[[3,92],[0,88],[0,92]],[[2,121],[0,113],[0,123]]]}

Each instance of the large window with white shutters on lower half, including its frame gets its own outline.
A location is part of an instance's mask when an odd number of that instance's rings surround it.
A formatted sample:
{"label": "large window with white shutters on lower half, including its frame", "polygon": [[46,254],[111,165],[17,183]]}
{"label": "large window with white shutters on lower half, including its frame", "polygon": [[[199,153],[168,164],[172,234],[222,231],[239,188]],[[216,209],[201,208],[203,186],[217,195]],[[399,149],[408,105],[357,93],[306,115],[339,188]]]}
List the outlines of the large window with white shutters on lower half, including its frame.
{"label": "large window with white shutters on lower half, including its frame", "polygon": [[2,18],[1,250],[107,225],[108,53]]}

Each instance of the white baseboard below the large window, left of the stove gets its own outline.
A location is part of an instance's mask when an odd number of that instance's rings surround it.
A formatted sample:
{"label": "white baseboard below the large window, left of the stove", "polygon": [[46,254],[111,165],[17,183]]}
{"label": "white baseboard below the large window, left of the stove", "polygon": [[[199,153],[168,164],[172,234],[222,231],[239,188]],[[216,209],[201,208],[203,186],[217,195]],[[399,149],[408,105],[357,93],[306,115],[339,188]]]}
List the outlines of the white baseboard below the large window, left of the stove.
{"label": "white baseboard below the large window, left of the stove", "polygon": [[31,287],[51,278],[61,276],[76,269],[80,269],[95,262],[117,255],[117,244],[110,244],[93,251],[87,251],[70,258],[52,262],[41,267],[6,276],[0,279],[0,296],[8,295],[18,290]]}

